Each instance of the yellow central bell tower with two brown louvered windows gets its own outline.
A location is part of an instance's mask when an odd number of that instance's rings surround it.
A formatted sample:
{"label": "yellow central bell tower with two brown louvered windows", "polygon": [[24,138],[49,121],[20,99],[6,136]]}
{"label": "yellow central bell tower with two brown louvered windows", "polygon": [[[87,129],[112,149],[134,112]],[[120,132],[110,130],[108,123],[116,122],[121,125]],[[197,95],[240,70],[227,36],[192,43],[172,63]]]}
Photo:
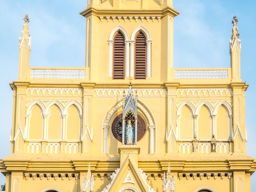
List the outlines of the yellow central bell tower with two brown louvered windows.
{"label": "yellow central bell tower with two brown louvered windows", "polygon": [[173,18],[179,14],[172,0],[88,0],[80,14],[91,81],[171,80]]}

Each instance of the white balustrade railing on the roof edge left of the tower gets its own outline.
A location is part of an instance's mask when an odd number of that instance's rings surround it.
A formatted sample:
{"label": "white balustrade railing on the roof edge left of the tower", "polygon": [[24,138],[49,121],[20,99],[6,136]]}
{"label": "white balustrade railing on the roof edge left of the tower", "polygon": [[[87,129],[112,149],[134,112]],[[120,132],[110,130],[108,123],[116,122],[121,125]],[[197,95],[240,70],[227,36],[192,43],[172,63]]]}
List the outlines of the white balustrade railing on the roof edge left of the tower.
{"label": "white balustrade railing on the roof edge left of the tower", "polygon": [[84,79],[84,69],[31,69],[31,78]]}

